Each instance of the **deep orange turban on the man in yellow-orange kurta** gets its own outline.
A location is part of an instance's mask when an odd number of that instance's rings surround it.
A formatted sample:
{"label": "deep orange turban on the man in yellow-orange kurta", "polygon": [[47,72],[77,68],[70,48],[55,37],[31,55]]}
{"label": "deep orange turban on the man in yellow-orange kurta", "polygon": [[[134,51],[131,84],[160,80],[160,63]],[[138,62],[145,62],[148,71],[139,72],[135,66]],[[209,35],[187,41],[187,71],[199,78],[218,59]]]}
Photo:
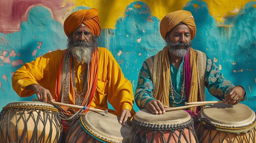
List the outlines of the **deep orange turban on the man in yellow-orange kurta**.
{"label": "deep orange turban on the man in yellow-orange kurta", "polygon": [[99,37],[101,33],[101,25],[97,9],[84,9],[71,13],[64,22],[64,32],[67,37],[83,23],[93,35]]}

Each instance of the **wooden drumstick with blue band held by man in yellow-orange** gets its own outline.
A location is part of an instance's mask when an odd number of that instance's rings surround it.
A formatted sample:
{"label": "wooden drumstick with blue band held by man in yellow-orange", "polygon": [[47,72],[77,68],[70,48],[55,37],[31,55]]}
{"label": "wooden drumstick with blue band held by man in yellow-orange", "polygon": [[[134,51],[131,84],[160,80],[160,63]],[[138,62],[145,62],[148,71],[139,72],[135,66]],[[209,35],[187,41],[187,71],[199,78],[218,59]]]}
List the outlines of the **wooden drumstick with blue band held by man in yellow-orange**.
{"label": "wooden drumstick with blue band held by man in yellow-orange", "polygon": [[[33,101],[40,101],[40,100],[33,98]],[[53,102],[47,101],[47,103],[59,105],[59,106],[65,106],[65,107],[69,107],[69,108],[75,108],[75,109],[90,110],[90,111],[94,111],[94,112],[105,112],[106,114],[108,113],[108,110],[101,110],[101,109],[97,109],[97,108],[90,108],[90,107],[61,103],[61,102],[56,102],[56,101],[53,101]]]}

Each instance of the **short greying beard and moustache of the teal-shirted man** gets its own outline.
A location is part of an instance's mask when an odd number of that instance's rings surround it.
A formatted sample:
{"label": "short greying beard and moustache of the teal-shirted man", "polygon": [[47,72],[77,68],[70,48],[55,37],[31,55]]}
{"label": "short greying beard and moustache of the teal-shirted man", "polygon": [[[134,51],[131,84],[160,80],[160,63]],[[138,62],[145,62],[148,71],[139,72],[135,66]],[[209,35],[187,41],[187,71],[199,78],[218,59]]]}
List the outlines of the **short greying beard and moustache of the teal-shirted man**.
{"label": "short greying beard and moustache of the teal-shirted man", "polygon": [[[179,46],[184,46],[184,48],[177,48]],[[181,42],[173,44],[171,40],[168,39],[167,47],[169,52],[173,53],[177,57],[183,57],[186,55],[186,53],[188,53],[189,47],[191,47],[191,42],[189,44]]]}

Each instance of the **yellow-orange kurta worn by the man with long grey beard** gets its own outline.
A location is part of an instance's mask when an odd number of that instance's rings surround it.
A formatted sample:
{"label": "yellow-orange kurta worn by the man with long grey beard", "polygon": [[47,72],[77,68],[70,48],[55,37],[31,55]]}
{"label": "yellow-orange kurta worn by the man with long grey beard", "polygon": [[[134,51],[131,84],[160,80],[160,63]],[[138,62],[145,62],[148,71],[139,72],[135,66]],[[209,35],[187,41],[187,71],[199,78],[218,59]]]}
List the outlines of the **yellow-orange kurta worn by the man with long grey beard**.
{"label": "yellow-orange kurta worn by the man with long grey beard", "polygon": [[[65,50],[57,50],[47,53],[36,60],[24,64],[16,70],[12,77],[13,89],[20,97],[28,97],[34,91],[25,89],[30,84],[40,84],[55,98],[55,84],[58,64]],[[98,48],[99,55],[99,75],[95,95],[92,99],[91,108],[108,109],[108,103],[117,111],[132,110],[133,91],[132,84],[124,77],[119,64],[106,48]],[[83,92],[83,73],[85,66],[75,62],[75,77],[77,92]]]}

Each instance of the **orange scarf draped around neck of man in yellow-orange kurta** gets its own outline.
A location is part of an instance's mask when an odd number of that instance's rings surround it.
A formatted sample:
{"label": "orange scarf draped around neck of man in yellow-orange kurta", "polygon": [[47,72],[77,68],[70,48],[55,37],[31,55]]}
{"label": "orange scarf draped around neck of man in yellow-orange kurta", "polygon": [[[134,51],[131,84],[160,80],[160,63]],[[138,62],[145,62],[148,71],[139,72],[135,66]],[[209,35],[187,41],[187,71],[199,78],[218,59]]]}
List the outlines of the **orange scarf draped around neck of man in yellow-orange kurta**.
{"label": "orange scarf draped around neck of man in yellow-orange kurta", "polygon": [[[56,78],[56,88],[55,88],[55,100],[58,102],[62,102],[63,98],[65,98],[65,94],[67,94],[67,99],[68,99],[68,103],[71,104],[75,104],[75,95],[74,95],[74,85],[72,83],[72,74],[71,73],[71,61],[72,61],[73,56],[71,55],[71,53],[67,50],[65,52],[65,54],[63,55],[61,62],[58,66],[58,74],[57,74],[57,78]],[[69,61],[69,73],[65,72],[65,66]],[[82,102],[82,106],[86,106],[86,107],[90,107],[91,103],[92,103],[92,99],[97,87],[97,81],[98,81],[98,66],[99,66],[99,59],[98,59],[98,49],[95,48],[94,53],[92,53],[92,61],[89,65],[88,68],[88,87],[87,87],[87,91],[85,93],[85,97],[83,99]],[[65,75],[68,75],[69,81],[65,81]],[[70,86],[67,86],[67,84],[65,83],[70,83]],[[65,93],[68,92],[68,93]],[[88,99],[88,104],[85,105],[86,99]],[[68,110],[68,107],[63,107],[62,108],[64,110]],[[75,111],[78,112],[80,109],[76,109]],[[87,112],[87,110],[85,110],[85,112]]]}

